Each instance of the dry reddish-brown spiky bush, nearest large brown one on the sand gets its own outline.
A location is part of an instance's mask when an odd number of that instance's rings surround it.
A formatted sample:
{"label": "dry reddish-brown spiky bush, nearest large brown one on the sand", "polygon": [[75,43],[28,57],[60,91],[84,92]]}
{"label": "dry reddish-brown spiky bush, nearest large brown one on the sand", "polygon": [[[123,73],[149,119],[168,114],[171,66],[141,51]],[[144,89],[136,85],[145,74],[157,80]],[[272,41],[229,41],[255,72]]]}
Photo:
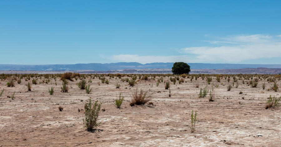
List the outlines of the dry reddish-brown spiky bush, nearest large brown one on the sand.
{"label": "dry reddish-brown spiky bush, nearest large brown one on the sand", "polygon": [[131,94],[131,101],[130,101],[130,106],[134,106],[134,105],[143,105],[149,101],[151,101],[152,98],[152,94],[148,94],[147,91],[144,91],[143,89],[139,90],[134,90]]}

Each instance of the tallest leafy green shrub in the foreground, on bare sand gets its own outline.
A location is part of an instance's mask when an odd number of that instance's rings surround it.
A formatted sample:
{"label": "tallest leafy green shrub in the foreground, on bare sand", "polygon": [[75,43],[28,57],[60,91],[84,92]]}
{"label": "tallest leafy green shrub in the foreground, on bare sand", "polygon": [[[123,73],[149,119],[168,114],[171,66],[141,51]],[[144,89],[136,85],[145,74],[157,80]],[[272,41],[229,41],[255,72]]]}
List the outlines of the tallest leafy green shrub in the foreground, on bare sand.
{"label": "tallest leafy green shrub in the foreground, on bare sand", "polygon": [[89,102],[85,104],[85,118],[83,118],[83,123],[87,131],[92,131],[94,127],[99,126],[101,123],[97,123],[97,118],[101,110],[101,104],[92,103],[91,97]]}

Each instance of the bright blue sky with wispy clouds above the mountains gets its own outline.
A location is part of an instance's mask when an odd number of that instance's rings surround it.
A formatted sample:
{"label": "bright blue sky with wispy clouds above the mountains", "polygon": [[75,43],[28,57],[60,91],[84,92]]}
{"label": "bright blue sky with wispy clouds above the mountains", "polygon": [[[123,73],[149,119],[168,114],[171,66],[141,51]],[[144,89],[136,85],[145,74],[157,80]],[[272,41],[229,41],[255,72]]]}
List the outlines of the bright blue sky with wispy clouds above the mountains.
{"label": "bright blue sky with wispy clouds above the mountains", "polygon": [[281,1],[0,1],[0,64],[116,62],[281,64]]}

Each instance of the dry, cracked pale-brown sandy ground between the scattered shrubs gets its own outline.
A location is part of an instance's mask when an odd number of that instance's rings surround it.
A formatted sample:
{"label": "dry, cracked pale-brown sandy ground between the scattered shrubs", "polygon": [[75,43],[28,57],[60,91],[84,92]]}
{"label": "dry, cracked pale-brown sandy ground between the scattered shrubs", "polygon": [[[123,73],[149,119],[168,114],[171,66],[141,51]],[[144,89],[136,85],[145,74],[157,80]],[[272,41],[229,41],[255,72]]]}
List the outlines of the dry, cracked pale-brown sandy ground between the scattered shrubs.
{"label": "dry, cracked pale-brown sandy ground between the scattered shrubs", "polygon": [[[158,77],[156,77],[157,79]],[[32,79],[32,78],[31,78]],[[106,77],[109,79],[109,77]],[[165,77],[165,80],[168,80]],[[80,79],[78,79],[80,81]],[[156,81],[140,81],[130,87],[119,78],[110,83],[92,79],[92,92],[86,94],[76,83],[69,81],[68,93],[60,91],[62,81],[52,80],[46,84],[32,84],[27,91],[27,81],[7,87],[0,81],[0,90],[5,89],[0,100],[0,146],[280,146],[281,108],[265,109],[269,95],[280,96],[269,89],[273,83],[263,80],[257,88],[246,83],[227,91],[231,82],[222,79],[215,88],[214,102],[208,97],[198,98],[200,88],[218,84],[213,79],[210,85],[198,78],[185,78],[182,84],[172,84],[172,96],[164,83],[156,87]],[[88,81],[88,80],[87,80]],[[120,89],[114,84],[121,83]],[[40,79],[38,79],[38,83]],[[99,84],[100,83],[100,84]],[[195,88],[199,83],[199,88]],[[223,84],[221,84],[223,83]],[[239,83],[242,83],[239,80]],[[153,85],[152,85],[153,84]],[[280,84],[280,81],[278,81]],[[54,87],[54,95],[48,88]],[[129,105],[134,89],[155,92],[152,105]],[[242,91],[243,94],[239,94]],[[0,91],[1,92],[1,91]],[[7,98],[15,92],[15,98]],[[116,95],[123,92],[125,101],[118,109],[114,105]],[[95,132],[87,132],[83,122],[86,100],[91,97],[101,102],[98,126]],[[58,107],[62,106],[63,111]],[[190,133],[190,113],[197,111],[196,131]]]}

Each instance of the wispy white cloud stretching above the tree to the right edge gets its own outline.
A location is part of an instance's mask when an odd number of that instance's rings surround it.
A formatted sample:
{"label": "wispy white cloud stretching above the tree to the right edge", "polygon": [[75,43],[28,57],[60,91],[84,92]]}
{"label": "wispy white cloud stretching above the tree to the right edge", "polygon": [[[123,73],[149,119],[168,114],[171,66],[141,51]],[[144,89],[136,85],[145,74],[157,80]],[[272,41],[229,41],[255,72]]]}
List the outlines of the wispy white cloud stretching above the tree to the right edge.
{"label": "wispy white cloud stretching above the tree to the right edge", "polygon": [[[281,35],[279,36],[281,37]],[[113,55],[122,62],[189,62],[189,63],[240,63],[259,58],[281,58],[281,39],[268,35],[236,35],[206,40],[210,46],[187,47],[178,50],[180,55]]]}

